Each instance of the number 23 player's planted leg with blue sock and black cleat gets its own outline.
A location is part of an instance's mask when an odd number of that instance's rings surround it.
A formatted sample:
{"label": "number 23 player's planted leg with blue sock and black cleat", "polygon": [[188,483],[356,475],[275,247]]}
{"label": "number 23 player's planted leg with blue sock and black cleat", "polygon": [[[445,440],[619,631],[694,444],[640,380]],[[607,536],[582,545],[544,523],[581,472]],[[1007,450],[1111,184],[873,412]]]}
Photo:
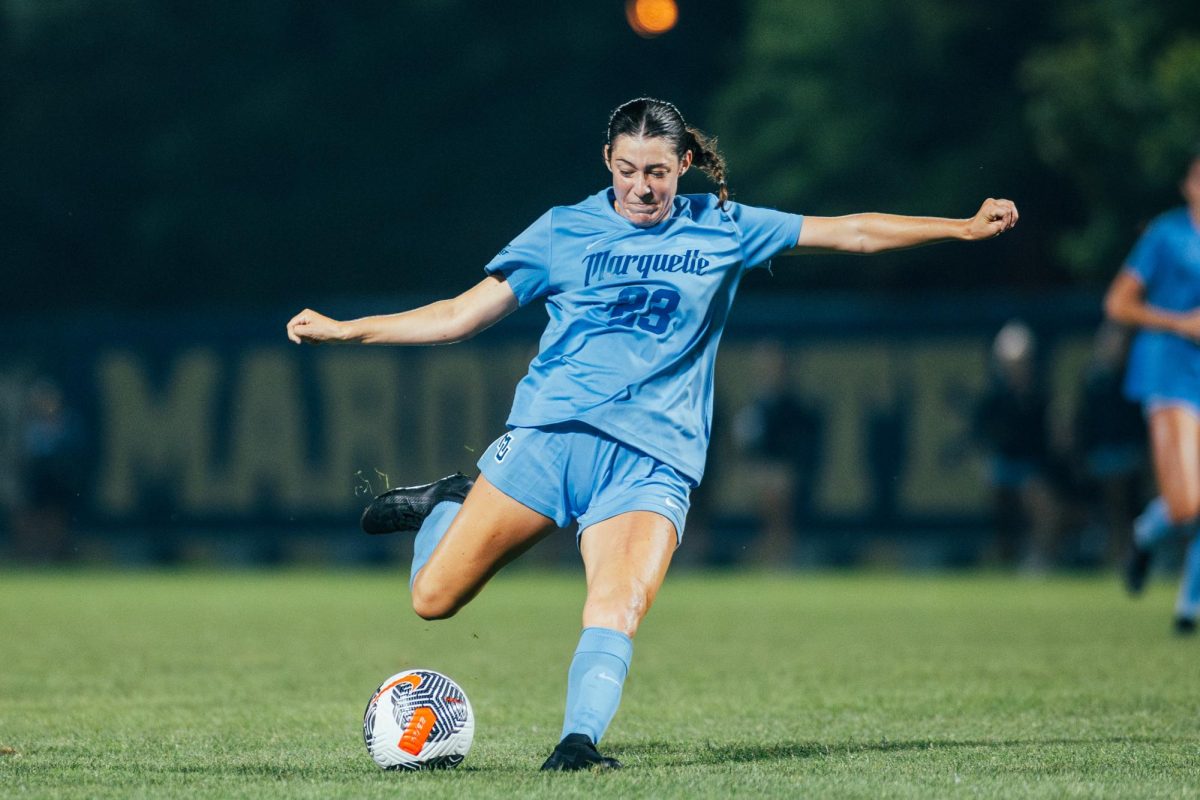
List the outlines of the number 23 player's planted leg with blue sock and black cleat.
{"label": "number 23 player's planted leg with blue sock and black cleat", "polygon": [[568,672],[563,739],[544,770],[620,766],[601,756],[596,744],[620,704],[634,634],[662,585],[677,542],[674,524],[652,511],[617,515],[583,531],[583,632]]}

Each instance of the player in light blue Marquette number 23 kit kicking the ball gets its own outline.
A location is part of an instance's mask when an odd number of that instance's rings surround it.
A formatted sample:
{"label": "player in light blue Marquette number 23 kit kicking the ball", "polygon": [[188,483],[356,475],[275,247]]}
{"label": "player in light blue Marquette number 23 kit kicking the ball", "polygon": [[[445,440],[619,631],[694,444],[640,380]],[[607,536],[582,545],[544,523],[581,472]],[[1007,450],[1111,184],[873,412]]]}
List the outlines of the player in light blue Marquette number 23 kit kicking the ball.
{"label": "player in light blue Marquette number 23 kit kicking the ball", "polygon": [[[306,309],[288,323],[298,343],[433,344],[546,303],[540,351],[473,486],[451,476],[394,489],[362,523],[377,533],[419,528],[413,608],[442,619],[556,525],[578,522],[583,631],[547,770],[619,766],[596,744],[703,475],[716,345],[742,276],[780,253],[876,253],[989,239],[1016,223],[1013,203],[992,199],[967,219],[800,217],[732,203],[713,142],[650,98],[613,112],[604,163],[611,186],[547,211],[457,297],[349,321]],[[716,196],[676,194],[692,166],[716,182]]]}

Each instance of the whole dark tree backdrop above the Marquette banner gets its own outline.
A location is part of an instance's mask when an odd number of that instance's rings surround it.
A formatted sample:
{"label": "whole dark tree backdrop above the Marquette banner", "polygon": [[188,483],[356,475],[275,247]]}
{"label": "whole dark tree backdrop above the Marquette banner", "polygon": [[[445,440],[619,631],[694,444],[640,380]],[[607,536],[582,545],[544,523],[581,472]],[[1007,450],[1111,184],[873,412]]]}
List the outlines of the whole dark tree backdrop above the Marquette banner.
{"label": "whole dark tree backdrop above the Marquette banner", "polygon": [[748,203],[1022,210],[773,290],[1106,277],[1200,138],[1200,4],[1060,5],[688,0],[643,41],[620,4],[0,4],[0,308],[456,290],[605,182],[638,95],[716,133]]}

